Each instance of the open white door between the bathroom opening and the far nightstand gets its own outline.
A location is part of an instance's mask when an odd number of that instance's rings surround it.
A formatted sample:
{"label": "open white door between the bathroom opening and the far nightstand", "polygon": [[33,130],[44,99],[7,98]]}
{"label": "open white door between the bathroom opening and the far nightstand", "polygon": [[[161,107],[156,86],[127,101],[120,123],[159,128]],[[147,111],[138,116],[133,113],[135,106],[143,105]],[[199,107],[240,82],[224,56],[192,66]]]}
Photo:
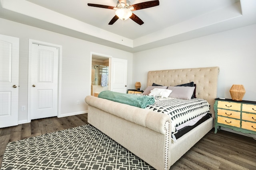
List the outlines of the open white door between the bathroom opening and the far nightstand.
{"label": "open white door between the bathroom opening and the far nightstand", "polygon": [[127,60],[111,58],[110,90],[126,93],[127,91]]}

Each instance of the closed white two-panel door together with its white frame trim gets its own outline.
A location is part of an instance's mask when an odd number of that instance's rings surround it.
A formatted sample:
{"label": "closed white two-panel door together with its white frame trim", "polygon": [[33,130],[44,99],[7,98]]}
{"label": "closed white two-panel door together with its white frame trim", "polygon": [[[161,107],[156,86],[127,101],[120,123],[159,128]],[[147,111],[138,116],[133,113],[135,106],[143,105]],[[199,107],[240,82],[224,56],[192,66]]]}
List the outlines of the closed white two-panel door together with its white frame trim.
{"label": "closed white two-panel door together with its white frame trim", "polygon": [[62,46],[29,39],[28,122],[60,115]]}

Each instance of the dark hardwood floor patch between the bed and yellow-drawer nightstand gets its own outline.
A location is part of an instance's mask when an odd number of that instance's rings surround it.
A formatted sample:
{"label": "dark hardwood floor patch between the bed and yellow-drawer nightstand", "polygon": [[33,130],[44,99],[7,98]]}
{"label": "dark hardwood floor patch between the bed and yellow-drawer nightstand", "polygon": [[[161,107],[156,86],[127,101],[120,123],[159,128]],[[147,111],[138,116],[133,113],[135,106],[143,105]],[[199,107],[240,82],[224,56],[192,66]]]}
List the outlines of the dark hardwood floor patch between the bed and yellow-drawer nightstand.
{"label": "dark hardwood floor patch between the bed and yellow-drawer nightstand", "polygon": [[256,140],[212,129],[171,170],[256,170]]}

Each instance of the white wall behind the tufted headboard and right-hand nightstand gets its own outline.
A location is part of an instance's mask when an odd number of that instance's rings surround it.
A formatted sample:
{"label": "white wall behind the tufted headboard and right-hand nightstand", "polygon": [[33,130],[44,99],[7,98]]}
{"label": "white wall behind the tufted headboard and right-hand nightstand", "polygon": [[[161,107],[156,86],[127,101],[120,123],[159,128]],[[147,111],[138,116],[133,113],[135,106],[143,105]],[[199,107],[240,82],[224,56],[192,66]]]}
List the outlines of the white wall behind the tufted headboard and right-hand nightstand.
{"label": "white wall behind the tufted headboard and right-hand nightstand", "polygon": [[218,97],[231,98],[243,84],[243,100],[256,101],[256,25],[134,53],[132,82],[146,88],[149,70],[219,66]]}

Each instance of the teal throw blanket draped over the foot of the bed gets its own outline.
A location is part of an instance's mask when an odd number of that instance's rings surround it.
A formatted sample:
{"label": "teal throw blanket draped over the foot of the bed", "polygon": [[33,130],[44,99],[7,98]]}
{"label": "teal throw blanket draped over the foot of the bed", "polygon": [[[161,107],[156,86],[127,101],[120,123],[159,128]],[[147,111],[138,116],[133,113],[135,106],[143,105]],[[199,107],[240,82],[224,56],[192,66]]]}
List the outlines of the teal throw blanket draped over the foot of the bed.
{"label": "teal throw blanket draped over the foot of the bed", "polygon": [[100,92],[98,98],[104,98],[112,100],[114,102],[119,102],[122,104],[128,104],[131,106],[136,106],[140,108],[146,108],[150,104],[154,104],[155,99],[153,96],[140,96],[135,94],[124,94],[118,92],[112,92],[109,90]]}

